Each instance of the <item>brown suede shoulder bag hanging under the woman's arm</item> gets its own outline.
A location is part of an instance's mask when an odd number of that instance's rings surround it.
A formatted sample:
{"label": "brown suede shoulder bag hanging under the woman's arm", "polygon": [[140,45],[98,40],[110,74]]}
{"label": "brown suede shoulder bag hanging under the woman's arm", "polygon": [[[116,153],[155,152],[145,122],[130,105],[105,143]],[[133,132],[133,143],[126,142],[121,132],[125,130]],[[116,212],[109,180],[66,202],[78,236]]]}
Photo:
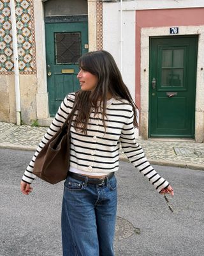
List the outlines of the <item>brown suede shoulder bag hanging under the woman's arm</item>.
{"label": "brown suede shoulder bag hanging under the woman's arm", "polygon": [[76,106],[36,157],[33,173],[42,180],[56,184],[66,179],[69,170],[70,128]]}

